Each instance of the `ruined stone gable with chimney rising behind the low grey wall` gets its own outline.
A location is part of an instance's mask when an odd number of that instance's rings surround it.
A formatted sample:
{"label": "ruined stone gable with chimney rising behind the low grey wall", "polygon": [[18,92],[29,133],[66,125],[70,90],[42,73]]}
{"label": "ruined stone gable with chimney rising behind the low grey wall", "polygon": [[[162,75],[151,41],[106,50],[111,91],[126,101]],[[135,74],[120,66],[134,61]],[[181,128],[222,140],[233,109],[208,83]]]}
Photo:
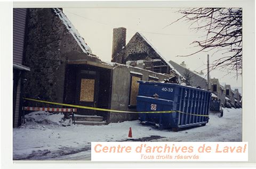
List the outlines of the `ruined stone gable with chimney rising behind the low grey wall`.
{"label": "ruined stone gable with chimney rising behind the low grey wall", "polygon": [[127,45],[126,29],[113,30],[113,53],[111,62],[132,65],[156,73],[182,75],[150,44],[141,33],[137,32]]}

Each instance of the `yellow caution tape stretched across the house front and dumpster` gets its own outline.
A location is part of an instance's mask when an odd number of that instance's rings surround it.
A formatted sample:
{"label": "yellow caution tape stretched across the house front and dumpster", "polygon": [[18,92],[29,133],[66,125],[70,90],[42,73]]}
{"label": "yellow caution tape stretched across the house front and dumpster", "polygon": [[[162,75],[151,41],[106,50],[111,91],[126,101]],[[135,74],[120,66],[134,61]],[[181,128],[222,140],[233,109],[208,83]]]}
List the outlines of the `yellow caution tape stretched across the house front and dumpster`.
{"label": "yellow caution tape stretched across the house front and dumpster", "polygon": [[92,109],[96,111],[105,111],[105,112],[114,112],[114,113],[183,113],[183,114],[189,114],[194,116],[204,116],[209,117],[209,115],[199,115],[199,114],[192,114],[192,113],[185,113],[181,111],[155,111],[155,112],[130,112],[130,111],[118,111],[114,109],[107,109],[107,108],[97,108],[97,107],[89,107],[89,106],[79,106],[79,105],[72,105],[72,104],[65,104],[65,103],[56,103],[56,102],[47,102],[44,100],[38,100],[38,99],[31,99],[31,98],[23,98],[25,100],[31,100],[34,102],[41,102],[41,103],[47,103],[47,104],[53,104],[53,105],[60,105],[60,106],[68,106],[68,107],[76,107],[76,108],[84,108],[84,109]]}

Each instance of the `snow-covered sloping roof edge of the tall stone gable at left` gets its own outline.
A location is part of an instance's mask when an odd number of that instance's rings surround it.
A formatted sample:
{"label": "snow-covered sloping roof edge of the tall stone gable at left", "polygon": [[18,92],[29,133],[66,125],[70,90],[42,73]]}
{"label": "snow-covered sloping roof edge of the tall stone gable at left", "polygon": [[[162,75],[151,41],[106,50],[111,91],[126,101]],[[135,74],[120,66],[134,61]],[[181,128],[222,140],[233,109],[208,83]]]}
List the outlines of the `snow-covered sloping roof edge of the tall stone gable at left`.
{"label": "snow-covered sloping roof edge of the tall stone gable at left", "polygon": [[[77,44],[81,47],[82,51],[87,54],[92,54],[92,50],[87,44],[85,43],[84,39],[81,37],[79,32],[76,30],[76,28],[73,26],[73,24],[69,21],[67,16],[58,8],[53,9],[54,13],[59,16],[60,20],[65,24],[68,31],[71,33],[71,35],[75,38],[77,41]],[[95,57],[95,56],[94,56]]]}

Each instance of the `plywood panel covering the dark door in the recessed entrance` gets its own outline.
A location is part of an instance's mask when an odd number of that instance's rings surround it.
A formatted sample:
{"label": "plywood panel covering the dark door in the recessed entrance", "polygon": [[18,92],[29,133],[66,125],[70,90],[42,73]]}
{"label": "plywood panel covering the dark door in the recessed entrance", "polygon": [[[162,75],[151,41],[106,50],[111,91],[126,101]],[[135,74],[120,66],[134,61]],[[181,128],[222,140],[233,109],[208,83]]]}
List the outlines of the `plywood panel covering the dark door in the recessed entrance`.
{"label": "plywood panel covering the dark door in the recessed entrance", "polygon": [[94,79],[81,79],[80,101],[93,102],[94,100]]}

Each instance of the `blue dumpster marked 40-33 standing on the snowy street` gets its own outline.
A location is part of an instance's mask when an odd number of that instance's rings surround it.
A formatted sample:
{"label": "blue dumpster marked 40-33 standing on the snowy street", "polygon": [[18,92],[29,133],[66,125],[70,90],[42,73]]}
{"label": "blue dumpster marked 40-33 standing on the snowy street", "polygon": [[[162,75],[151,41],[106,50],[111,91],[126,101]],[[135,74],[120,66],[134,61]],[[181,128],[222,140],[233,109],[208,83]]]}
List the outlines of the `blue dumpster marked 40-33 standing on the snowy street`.
{"label": "blue dumpster marked 40-33 standing on the snowy street", "polygon": [[174,83],[138,81],[138,112],[175,111],[174,113],[141,113],[141,123],[154,124],[174,131],[209,121],[211,92]]}

